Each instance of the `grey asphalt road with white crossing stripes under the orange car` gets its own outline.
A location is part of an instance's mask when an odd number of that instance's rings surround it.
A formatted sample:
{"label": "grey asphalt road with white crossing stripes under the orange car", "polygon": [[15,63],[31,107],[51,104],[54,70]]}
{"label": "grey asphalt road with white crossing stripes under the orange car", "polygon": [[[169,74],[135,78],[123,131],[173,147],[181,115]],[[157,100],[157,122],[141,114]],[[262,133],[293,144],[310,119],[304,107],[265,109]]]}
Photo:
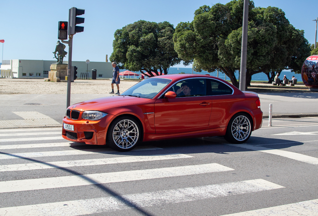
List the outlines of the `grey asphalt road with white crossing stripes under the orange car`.
{"label": "grey asphalt road with white crossing stripes under the orange car", "polygon": [[0,129],[0,215],[318,215],[318,118],[267,125],[240,145],[204,137],[124,153],[67,142],[60,127]]}

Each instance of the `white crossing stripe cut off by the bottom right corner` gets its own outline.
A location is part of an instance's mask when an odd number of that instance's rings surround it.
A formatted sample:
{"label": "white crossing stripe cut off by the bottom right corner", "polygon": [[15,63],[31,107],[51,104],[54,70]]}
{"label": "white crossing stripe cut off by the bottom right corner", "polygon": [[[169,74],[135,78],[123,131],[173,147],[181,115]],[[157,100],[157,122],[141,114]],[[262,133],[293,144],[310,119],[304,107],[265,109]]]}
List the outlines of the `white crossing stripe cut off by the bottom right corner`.
{"label": "white crossing stripe cut off by the bottom right corner", "polygon": [[278,205],[274,207],[261,208],[257,210],[244,211],[239,213],[226,214],[223,216],[267,216],[267,215],[284,215],[284,216],[317,216],[318,199],[301,201],[291,204]]}

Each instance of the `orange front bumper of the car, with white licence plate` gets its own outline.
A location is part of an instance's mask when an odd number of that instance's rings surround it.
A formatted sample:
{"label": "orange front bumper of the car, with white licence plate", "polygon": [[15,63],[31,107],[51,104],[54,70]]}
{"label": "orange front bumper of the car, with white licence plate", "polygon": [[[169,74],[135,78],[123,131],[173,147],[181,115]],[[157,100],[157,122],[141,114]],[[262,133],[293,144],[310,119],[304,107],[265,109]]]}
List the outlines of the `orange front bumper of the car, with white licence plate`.
{"label": "orange front bumper of the car, with white licence plate", "polygon": [[[106,144],[106,133],[114,115],[107,114],[99,120],[63,118],[62,137],[69,141],[85,142],[86,144]],[[74,126],[74,131],[64,129],[64,123]]]}

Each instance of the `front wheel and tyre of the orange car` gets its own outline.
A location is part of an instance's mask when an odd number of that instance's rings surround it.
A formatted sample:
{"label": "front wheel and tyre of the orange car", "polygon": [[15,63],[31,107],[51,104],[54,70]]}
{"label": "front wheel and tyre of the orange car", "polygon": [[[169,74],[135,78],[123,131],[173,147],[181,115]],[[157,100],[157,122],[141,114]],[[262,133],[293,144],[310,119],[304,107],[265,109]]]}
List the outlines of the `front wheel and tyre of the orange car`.
{"label": "front wheel and tyre of the orange car", "polygon": [[114,150],[129,151],[137,145],[140,137],[139,123],[132,117],[122,116],[111,122],[106,143]]}

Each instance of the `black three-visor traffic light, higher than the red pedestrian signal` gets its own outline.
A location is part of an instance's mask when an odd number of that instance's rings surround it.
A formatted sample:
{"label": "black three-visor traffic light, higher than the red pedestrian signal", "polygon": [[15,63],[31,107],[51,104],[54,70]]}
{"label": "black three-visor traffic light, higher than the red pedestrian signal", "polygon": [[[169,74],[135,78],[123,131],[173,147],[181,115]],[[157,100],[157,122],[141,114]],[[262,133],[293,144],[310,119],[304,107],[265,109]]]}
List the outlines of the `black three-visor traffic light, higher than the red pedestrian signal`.
{"label": "black three-visor traffic light, higher than the red pedestrian signal", "polygon": [[84,19],[82,17],[76,17],[77,15],[84,14],[84,9],[77,9],[76,7],[72,7],[69,9],[68,13],[68,35],[73,35],[76,32],[84,31],[83,26],[76,26],[76,24],[84,23]]}

